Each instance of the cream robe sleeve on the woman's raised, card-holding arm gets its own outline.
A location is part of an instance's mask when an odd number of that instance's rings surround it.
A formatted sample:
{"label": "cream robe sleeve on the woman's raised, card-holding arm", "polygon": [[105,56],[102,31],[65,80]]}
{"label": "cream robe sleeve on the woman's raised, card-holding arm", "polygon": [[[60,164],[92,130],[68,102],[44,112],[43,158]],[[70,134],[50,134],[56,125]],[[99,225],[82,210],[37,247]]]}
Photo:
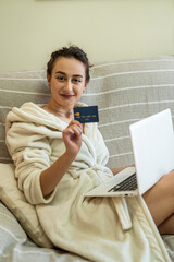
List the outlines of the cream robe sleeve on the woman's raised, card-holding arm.
{"label": "cream robe sleeve on the woman's raised, card-holding arm", "polygon": [[51,146],[46,127],[13,122],[7,132],[7,146],[15,164],[18,189],[32,204],[49,203],[55,193],[45,199],[40,187],[40,174],[50,167]]}

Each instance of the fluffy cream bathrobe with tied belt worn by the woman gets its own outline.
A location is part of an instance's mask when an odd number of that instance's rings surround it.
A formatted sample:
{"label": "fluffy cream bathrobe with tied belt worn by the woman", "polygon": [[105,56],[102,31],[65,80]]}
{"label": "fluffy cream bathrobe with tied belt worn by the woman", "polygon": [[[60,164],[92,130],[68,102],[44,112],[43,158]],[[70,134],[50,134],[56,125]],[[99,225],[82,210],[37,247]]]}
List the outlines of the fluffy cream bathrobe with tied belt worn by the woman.
{"label": "fluffy cream bathrobe with tied belt worn by the woman", "polygon": [[66,126],[33,103],[13,108],[7,117],[7,145],[18,188],[36,205],[51,242],[95,262],[170,261],[140,196],[84,196],[113,176],[105,166],[109,153],[97,123],[85,124],[75,160],[51,195],[44,198],[40,174],[65,152],[62,130]]}

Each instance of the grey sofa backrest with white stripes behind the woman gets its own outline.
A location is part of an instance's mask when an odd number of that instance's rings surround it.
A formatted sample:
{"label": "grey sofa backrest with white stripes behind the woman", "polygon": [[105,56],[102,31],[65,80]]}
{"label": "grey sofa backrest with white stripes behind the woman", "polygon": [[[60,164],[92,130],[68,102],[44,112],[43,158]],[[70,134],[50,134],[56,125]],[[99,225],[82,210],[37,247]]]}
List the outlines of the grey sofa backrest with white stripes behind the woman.
{"label": "grey sofa backrest with white stripes behind the woman", "polygon": [[[129,165],[129,124],[165,108],[174,114],[174,57],[100,62],[90,76],[82,100],[99,107],[108,165]],[[0,162],[11,162],[4,143],[8,111],[25,102],[46,104],[49,97],[45,70],[0,73]]]}

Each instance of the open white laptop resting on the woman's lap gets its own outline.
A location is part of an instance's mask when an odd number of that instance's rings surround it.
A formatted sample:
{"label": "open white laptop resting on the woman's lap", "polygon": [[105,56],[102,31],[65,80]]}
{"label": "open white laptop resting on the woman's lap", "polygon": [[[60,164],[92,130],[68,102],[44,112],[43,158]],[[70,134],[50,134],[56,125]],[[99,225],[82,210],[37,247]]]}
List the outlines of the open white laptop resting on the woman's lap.
{"label": "open white laptop resting on the woman's lap", "polygon": [[125,168],[86,196],[144,194],[174,169],[174,131],[170,109],[130,124],[129,132],[135,167]]}

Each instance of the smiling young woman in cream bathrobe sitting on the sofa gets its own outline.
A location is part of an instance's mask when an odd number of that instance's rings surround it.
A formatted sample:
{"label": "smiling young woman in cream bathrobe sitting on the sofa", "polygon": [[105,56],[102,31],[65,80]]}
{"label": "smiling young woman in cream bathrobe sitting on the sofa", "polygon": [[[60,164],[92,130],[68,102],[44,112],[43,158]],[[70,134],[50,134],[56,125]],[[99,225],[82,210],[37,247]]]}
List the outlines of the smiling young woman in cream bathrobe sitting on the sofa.
{"label": "smiling young woman in cream bathrobe sitting on the sofa", "polygon": [[158,261],[159,255],[164,261],[153,222],[161,234],[174,234],[174,174],[144,194],[146,204],[137,198],[84,198],[123,169],[105,167],[109,153],[97,124],[73,118],[89,82],[86,53],[74,46],[53,52],[47,80],[47,105],[26,103],[7,117],[18,188],[36,205],[47,236],[91,261]]}

